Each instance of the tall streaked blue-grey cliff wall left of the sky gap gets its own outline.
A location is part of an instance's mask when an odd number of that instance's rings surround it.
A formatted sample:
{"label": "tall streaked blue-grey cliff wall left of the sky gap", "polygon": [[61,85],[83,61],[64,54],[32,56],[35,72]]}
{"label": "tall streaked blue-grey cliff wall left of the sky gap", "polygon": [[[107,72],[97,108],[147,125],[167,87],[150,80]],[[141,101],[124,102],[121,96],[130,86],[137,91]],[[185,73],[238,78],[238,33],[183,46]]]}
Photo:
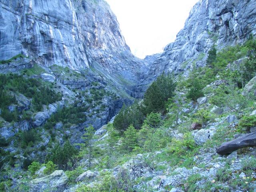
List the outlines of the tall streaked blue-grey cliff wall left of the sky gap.
{"label": "tall streaked blue-grey cliff wall left of the sky gap", "polygon": [[[1,72],[34,62],[73,70],[92,66],[114,84],[125,79],[132,93],[132,84],[148,69],[130,52],[104,0],[1,0],[0,18],[0,60],[26,56],[1,64]],[[54,81],[50,74],[42,78]]]}

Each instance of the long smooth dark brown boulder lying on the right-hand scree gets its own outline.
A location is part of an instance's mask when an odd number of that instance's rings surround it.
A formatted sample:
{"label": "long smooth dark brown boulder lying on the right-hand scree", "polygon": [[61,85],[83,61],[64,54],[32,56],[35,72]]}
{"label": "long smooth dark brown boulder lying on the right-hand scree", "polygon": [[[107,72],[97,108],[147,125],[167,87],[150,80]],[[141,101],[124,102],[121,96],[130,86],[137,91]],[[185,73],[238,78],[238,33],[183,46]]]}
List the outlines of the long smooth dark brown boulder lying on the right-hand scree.
{"label": "long smooth dark brown boulder lying on the right-hand scree", "polygon": [[216,152],[221,155],[230,154],[239,148],[256,146],[256,132],[244,134],[234,140],[224,142],[217,147]]}

